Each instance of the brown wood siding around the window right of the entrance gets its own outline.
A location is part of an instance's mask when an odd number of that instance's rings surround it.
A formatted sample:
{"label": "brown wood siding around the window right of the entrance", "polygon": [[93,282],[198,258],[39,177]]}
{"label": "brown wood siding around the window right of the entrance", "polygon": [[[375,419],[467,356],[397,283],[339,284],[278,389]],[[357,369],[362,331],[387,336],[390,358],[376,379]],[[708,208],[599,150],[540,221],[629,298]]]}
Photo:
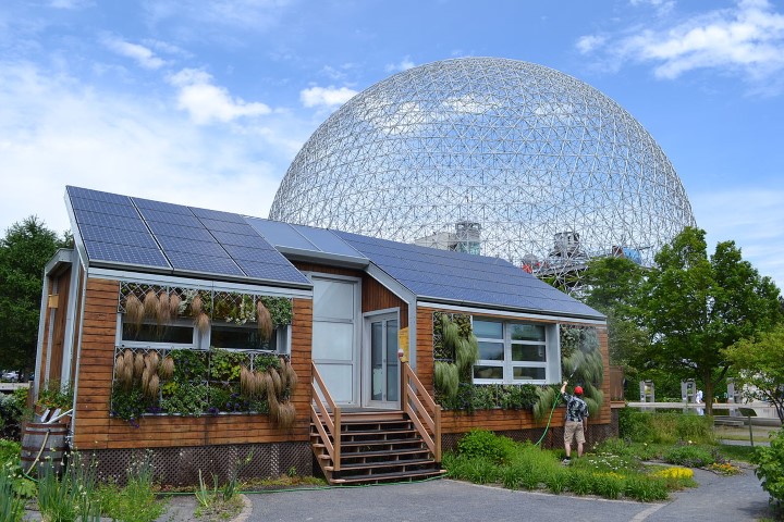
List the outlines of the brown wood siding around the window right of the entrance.
{"label": "brown wood siding around the window right of the entrance", "polygon": [[[422,385],[430,394],[433,389],[433,336],[432,336],[432,316],[434,308],[419,307],[417,309],[417,369],[416,373]],[[504,320],[519,320],[519,318],[510,318],[502,314],[482,313],[489,318]],[[556,321],[547,321],[537,319],[540,323],[555,323]],[[564,322],[561,322],[564,324]],[[579,322],[569,322],[567,324],[584,325]],[[597,328],[599,337],[599,346],[604,362],[604,380],[601,390],[604,394],[604,402],[600,409],[599,415],[588,420],[589,424],[610,424],[610,359],[608,352],[607,327],[604,325],[593,325]],[[565,411],[564,408],[558,408],[553,414],[551,425],[563,425]],[[528,410],[483,410],[474,413],[465,413],[460,411],[444,411],[441,415],[441,428],[444,434],[465,433],[474,428],[486,428],[497,432],[529,430],[534,427],[543,427],[547,420],[536,422],[534,415]]]}

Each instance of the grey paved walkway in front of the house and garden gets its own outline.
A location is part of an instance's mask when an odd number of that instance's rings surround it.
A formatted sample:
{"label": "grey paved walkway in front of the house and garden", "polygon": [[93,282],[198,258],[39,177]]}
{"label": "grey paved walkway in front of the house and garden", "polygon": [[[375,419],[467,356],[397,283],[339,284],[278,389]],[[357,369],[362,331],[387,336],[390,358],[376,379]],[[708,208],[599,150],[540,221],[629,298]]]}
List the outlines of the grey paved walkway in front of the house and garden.
{"label": "grey paved walkway in front of the house and garden", "polygon": [[[248,494],[252,508],[234,522],[737,522],[769,515],[768,494],[750,470],[736,476],[695,470],[695,480],[699,487],[675,493],[669,501],[657,504],[513,492],[445,478],[415,484]],[[193,497],[176,497],[159,520],[193,520],[189,517],[194,506]]]}

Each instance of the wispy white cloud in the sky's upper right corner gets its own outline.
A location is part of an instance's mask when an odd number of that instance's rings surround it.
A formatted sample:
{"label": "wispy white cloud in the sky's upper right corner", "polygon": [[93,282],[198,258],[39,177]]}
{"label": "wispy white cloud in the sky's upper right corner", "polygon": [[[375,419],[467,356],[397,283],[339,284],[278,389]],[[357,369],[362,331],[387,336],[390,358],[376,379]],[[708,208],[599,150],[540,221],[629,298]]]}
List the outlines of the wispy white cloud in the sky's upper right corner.
{"label": "wispy white cloud in the sky's upper right corner", "polygon": [[699,69],[728,70],[752,82],[784,73],[784,15],[767,0],[740,0],[732,9],[670,24],[636,26],[613,38],[584,36],[577,48],[584,53],[602,52],[614,66],[627,61],[652,63],[654,74],[666,79]]}

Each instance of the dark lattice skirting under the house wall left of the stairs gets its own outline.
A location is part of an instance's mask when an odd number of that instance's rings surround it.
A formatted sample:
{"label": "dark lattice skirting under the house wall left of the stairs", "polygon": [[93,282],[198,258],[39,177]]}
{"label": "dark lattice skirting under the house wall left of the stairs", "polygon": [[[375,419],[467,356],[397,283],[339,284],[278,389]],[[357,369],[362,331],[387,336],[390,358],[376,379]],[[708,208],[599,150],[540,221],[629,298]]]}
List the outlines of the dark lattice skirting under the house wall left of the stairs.
{"label": "dark lattice skirting under the house wall left of the stairs", "polygon": [[198,484],[198,472],[212,484],[212,474],[223,483],[237,469],[236,463],[252,455],[242,465],[240,478],[267,478],[291,472],[313,474],[313,451],[308,443],[236,444],[145,449],[100,449],[90,452],[102,480],[125,483],[126,471],[149,459],[155,481],[164,485]]}

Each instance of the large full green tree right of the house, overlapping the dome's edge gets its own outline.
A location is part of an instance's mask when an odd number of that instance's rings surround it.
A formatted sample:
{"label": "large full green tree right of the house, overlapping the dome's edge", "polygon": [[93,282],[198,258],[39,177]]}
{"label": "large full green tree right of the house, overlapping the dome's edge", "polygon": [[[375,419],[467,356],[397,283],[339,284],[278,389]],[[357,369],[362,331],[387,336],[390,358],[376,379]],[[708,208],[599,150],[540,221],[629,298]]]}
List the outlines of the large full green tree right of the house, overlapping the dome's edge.
{"label": "large full green tree right of the house, overlapping the dome's edge", "polygon": [[734,241],[708,258],[705,231],[686,227],[656,256],[638,302],[652,364],[705,389],[708,414],[730,368],[722,349],[781,320],[779,288],[744,261]]}

